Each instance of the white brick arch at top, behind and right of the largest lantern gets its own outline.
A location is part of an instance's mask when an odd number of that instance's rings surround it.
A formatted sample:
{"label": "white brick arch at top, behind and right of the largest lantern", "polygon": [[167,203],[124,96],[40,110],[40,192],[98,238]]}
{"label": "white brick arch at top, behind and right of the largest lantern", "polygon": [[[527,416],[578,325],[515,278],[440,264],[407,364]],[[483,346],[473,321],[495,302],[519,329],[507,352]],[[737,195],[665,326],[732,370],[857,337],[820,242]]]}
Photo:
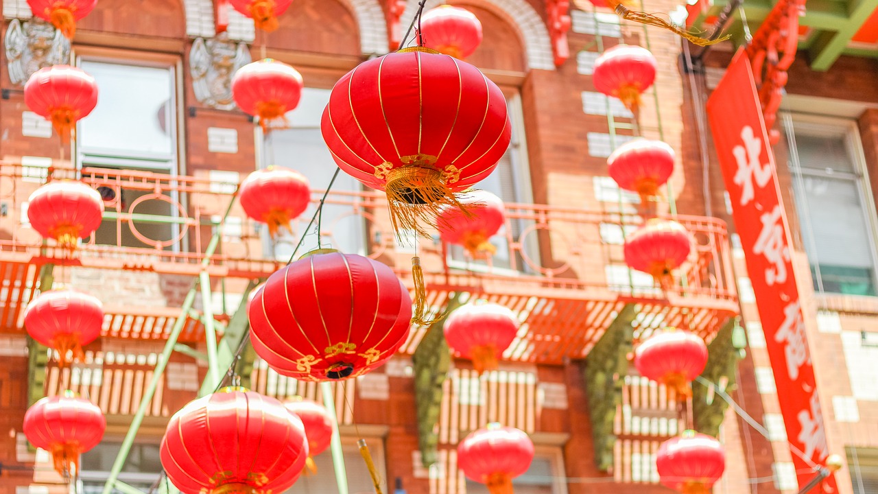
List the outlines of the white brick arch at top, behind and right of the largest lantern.
{"label": "white brick arch at top, behind and right of the largest lantern", "polygon": [[[418,9],[418,0],[408,0],[406,11],[400,20],[400,28],[403,30],[400,36],[405,34],[409,23],[414,18],[414,12]],[[427,0],[424,10],[427,11],[440,4],[443,0]],[[450,4],[458,2],[450,1]],[[555,63],[551,51],[549,31],[543,24],[543,18],[534,10],[527,0],[461,0],[461,4],[472,4],[484,7],[500,14],[515,25],[522,34],[525,50],[527,51],[528,69],[554,70]]]}

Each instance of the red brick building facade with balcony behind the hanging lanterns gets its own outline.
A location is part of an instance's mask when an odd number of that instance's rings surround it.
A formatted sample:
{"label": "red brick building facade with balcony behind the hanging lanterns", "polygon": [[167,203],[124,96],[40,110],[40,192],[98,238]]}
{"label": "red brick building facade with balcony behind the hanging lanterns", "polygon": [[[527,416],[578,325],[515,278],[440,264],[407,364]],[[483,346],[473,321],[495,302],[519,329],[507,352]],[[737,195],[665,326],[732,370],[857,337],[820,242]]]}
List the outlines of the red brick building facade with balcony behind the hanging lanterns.
{"label": "red brick building facade with balcony behind the hanging lanterns", "polygon": [[[471,293],[495,294],[498,301],[517,304],[514,309],[529,313],[522,317],[529,317],[535,328],[536,312],[545,310],[554,315],[554,321],[543,323],[551,327],[546,331],[575,333],[578,339],[573,341],[583,349],[564,358],[543,358],[528,352],[510,355],[499,372],[481,379],[471,371],[469,362],[454,360],[449,378],[442,384],[441,402],[436,403],[437,461],[426,468],[421,461],[415,412],[421,406],[415,379],[419,370],[412,356],[425,331],[414,331],[412,341],[387,366],[334,388],[351,492],[371,491],[356,454],[357,435],[370,440],[387,490],[399,483],[406,492],[417,494],[483,491],[478,485],[464,483],[456,469],[453,447],[466,432],[493,420],[529,432],[537,446],[537,460],[516,492],[668,491],[657,483],[654,454],[662,440],[686,428],[693,419],[691,403],[683,407],[687,411],[680,416],[680,403],[670,402],[663,389],[637,376],[633,367],[615,376],[620,382],[620,402],[610,407],[609,418],[600,417],[603,425],[598,425],[595,403],[589,399],[594,381],[589,381],[592,374],[587,369],[596,365],[598,358],[597,350],[589,350],[602,348],[601,334],[620,320],[628,304],[636,306],[637,314],[626,323],[636,338],[661,325],[663,318],[672,321],[673,317],[679,323],[702,324],[698,329],[710,338],[730,331],[734,333],[731,339],[738,339],[745,332],[745,357],[738,362],[737,372],[728,376],[731,382],[737,381],[729,391],[747,413],[766,426],[769,437],[763,437],[733,410],[721,410],[725,419],[718,432],[727,452],[727,467],[714,492],[795,492],[795,470],[790,472],[790,453],[777,398],[771,390],[771,367],[764,337],[761,342],[759,339],[759,317],[748,291],[742,254],[722,227],[712,226],[721,222],[711,220],[719,218],[728,223],[730,232],[734,230],[709,130],[699,126],[698,116],[730,60],[731,48],[720,45],[704,57],[702,66],[687,70],[680,39],[673,33],[620,25],[609,11],[572,6],[572,29],[565,41],[571,56],[556,67],[547,27],[547,4],[554,2],[450,3],[465,6],[480,19],[485,39],[468,61],[500,85],[515,127],[513,146],[496,177],[483,186],[521,207],[510,207],[514,218],[507,224],[506,237],[499,241],[500,256],[493,265],[471,263],[438,242],[422,243],[427,252],[422,255],[435,272],[456,270],[456,276],[464,280],[461,287],[468,287]],[[416,4],[414,0],[407,2],[399,19],[403,27],[414,16]],[[428,2],[428,6],[432,4],[439,2]],[[645,4],[649,11],[677,7],[673,0]],[[248,172],[272,163],[302,171],[315,190],[325,187],[334,171],[319,136],[319,116],[328,90],[357,63],[385,54],[394,39],[394,24],[388,22],[391,16],[384,0],[295,0],[280,18],[277,32],[267,36],[256,33],[252,21],[231,12],[227,34],[219,37],[222,47],[217,47],[211,44],[216,33],[214,6],[209,0],[101,0],[95,11],[80,21],[64,62],[95,75],[102,100],[90,120],[83,120],[78,128],[76,145],[59,149],[57,135],[47,122],[28,111],[21,85],[14,83],[12,69],[7,70],[17,63],[10,43],[26,44],[26,40],[8,35],[13,26],[22,30],[25,38],[30,36],[29,40],[37,36],[28,32],[32,25],[25,25],[31,18],[29,7],[24,0],[2,0],[2,7],[7,49],[0,60],[0,157],[4,163],[4,176],[0,176],[0,272],[5,277],[0,291],[0,304],[4,304],[0,307],[4,332],[0,337],[0,354],[4,356],[0,362],[0,492],[54,494],[68,490],[50,468],[46,452],[28,448],[21,432],[34,386],[46,395],[75,389],[107,415],[104,445],[83,458],[80,488],[96,492],[103,486],[162,352],[162,338],[180,316],[179,307],[197,273],[191,266],[200,261],[199,254],[232,200],[229,187],[234,191],[234,185]],[[608,101],[592,83],[594,58],[622,42],[649,47],[659,61],[655,91],[645,96],[636,125],[623,105]],[[222,49],[226,51],[220,52]],[[193,69],[206,63],[216,70],[240,62],[241,56],[256,60],[266,55],[299,69],[306,91],[299,109],[289,115],[291,129],[263,136],[244,113],[218,109],[221,104],[203,101],[196,86],[204,84],[199,91],[216,88],[210,87],[210,81],[202,81]],[[832,453],[847,460],[837,475],[840,492],[865,493],[870,491],[869,485],[878,486],[878,374],[868,365],[878,357],[878,331],[874,328],[878,320],[878,293],[874,290],[878,285],[869,285],[869,280],[875,280],[878,257],[872,192],[878,180],[878,87],[873,84],[878,67],[872,59],[843,56],[829,71],[816,72],[809,68],[804,54],[800,58],[789,74],[784,107],[788,112],[779,119],[784,138],[775,147],[778,173],[794,229],[793,258],[802,280],[802,300],[807,301],[810,350],[829,444]],[[25,59],[21,61],[24,65],[28,63]],[[822,116],[817,118],[814,113]],[[688,292],[681,288],[683,296],[673,300],[680,301],[683,309],[673,309],[673,303],[656,293],[651,279],[629,272],[621,258],[619,243],[626,229],[639,222],[637,196],[620,193],[615,187],[607,177],[606,158],[635,135],[661,139],[677,151],[670,195],[663,196],[659,210],[690,215],[687,221],[698,229],[696,238],[715,249],[719,260],[710,262],[721,265],[714,269],[713,279],[702,280],[704,287],[714,290],[713,295],[702,294],[695,287],[686,288]],[[816,139],[821,135],[836,136],[835,142],[823,144],[842,146],[841,151],[832,148],[842,154],[821,158],[820,142],[815,141],[811,148],[802,146],[809,136]],[[798,137],[800,145],[790,146],[790,137]],[[788,149],[798,152],[789,153]],[[808,149],[814,154],[805,156]],[[841,281],[832,286],[829,282],[815,285],[810,265],[817,265],[815,273],[819,273],[821,262],[809,257],[813,250],[808,243],[820,243],[835,230],[801,226],[808,223],[802,217],[810,214],[807,208],[802,209],[802,198],[820,192],[819,183],[807,185],[817,189],[798,188],[805,186],[804,176],[814,177],[802,169],[813,163],[809,159],[841,159],[845,152],[850,169],[839,173],[849,183],[847,189],[838,190],[859,194],[857,204],[865,232],[850,241],[867,242],[864,259],[871,258],[872,264],[859,266],[853,274],[836,269],[833,274]],[[788,157],[791,155],[797,157]],[[99,174],[90,171],[90,183],[104,180],[102,186],[112,188],[118,197],[108,203],[111,214],[105,216],[97,236],[83,246],[81,263],[65,265],[50,254],[40,257],[32,253],[40,238],[27,225],[25,201],[45,180],[47,169],[59,176],[83,169],[116,173],[110,178],[95,178]],[[162,182],[155,174],[178,179]],[[85,171],[82,175],[86,179]],[[156,185],[153,199],[140,200],[140,210],[131,205],[150,191],[133,186],[138,180],[140,185],[162,182]],[[113,188],[112,183],[118,186]],[[386,235],[385,214],[363,208],[356,202],[361,195],[356,182],[340,178],[326,210],[325,221],[330,226],[320,234],[344,251],[374,255],[408,282],[410,248]],[[838,211],[853,211],[855,205],[848,206]],[[570,211],[575,213],[565,213]],[[164,215],[178,221],[143,222],[133,233],[132,225],[137,225],[138,219],[132,214]],[[544,218],[552,214],[558,216],[550,225]],[[565,219],[564,214],[575,219]],[[305,216],[295,225],[299,233],[310,213]],[[152,239],[152,247],[157,241],[160,248],[142,251],[150,248],[150,243],[141,236]],[[180,240],[173,242],[176,239]],[[289,257],[297,239],[281,237],[273,243],[263,228],[243,219],[240,206],[232,207],[219,250],[223,259],[234,263],[211,268],[213,312],[219,323],[231,324],[248,282],[277,269],[281,264],[276,261]],[[314,237],[308,239],[309,247],[312,243]],[[854,250],[851,255],[861,251]],[[188,253],[192,256],[187,257]],[[728,265],[723,265],[723,259],[733,265],[733,271],[725,269]],[[249,261],[257,266],[246,265]],[[40,280],[45,280],[47,265],[54,265],[48,272],[54,275],[55,283],[95,294],[108,309],[104,338],[86,348],[85,362],[68,370],[47,363],[45,349],[42,364],[35,364],[39,356],[22,328],[21,309],[40,288]],[[829,271],[835,269],[833,266],[825,264]],[[543,293],[535,288],[540,284],[529,276],[540,275],[554,276],[554,291]],[[852,277],[853,281],[848,280]],[[558,280],[573,281],[565,287],[566,282]],[[518,294],[512,288],[493,293],[493,288],[515,283],[521,284],[515,286],[520,288]],[[440,298],[450,297],[446,293],[450,291],[435,289]],[[695,301],[687,302],[687,296]],[[562,304],[570,309],[557,309]],[[554,312],[546,309],[550,307],[556,307]],[[195,309],[203,309],[201,301]],[[738,314],[745,331],[732,328]],[[191,318],[180,344],[186,348],[170,358],[119,477],[143,490],[156,483],[161,470],[157,444],[164,424],[197,396],[205,379],[207,367],[198,358],[198,352],[205,350],[204,331],[199,325],[203,323],[198,316],[184,317]],[[40,370],[35,372],[35,367]],[[260,360],[253,360],[248,370],[244,377],[259,392],[278,397],[320,394],[312,383],[278,376]],[[711,394],[711,400],[719,398]],[[602,435],[615,436],[615,443],[608,450],[608,464],[599,467],[601,458],[594,445],[595,438]],[[319,475],[303,477],[292,492],[334,491],[330,490],[335,481],[328,454],[318,458],[318,464]]]}

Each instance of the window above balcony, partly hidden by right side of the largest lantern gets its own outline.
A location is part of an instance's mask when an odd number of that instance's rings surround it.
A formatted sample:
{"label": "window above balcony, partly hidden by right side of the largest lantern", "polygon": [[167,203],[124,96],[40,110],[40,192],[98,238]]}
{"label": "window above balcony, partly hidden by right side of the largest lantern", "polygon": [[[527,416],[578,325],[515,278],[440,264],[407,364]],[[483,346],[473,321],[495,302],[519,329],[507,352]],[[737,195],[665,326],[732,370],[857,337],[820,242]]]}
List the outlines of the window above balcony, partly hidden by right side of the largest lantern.
{"label": "window above balcony, partly hidden by right side of the largest lantern", "polygon": [[[474,185],[474,187],[495,194],[504,203],[529,204],[533,202],[533,198],[532,191],[530,190],[527,149],[524,144],[524,119],[522,117],[521,97],[517,93],[507,97],[507,106],[509,108],[509,117],[512,120],[512,141],[509,142],[509,149],[500,158],[497,168],[491,175]],[[507,209],[507,214],[508,212]],[[511,268],[513,266],[513,262],[509,258],[510,250],[507,234],[517,239],[531,223],[531,221],[522,219],[512,219],[509,221],[512,227],[511,232],[507,232],[506,227],[503,227],[497,235],[491,238],[491,243],[497,248],[497,251],[490,259],[491,266],[494,268]],[[535,235],[529,235],[524,239],[522,249],[525,250],[533,262],[539,261],[539,251]],[[488,263],[483,259],[469,259],[464,255],[463,247],[449,245],[449,265],[465,267],[467,269],[478,269],[479,266],[486,266]],[[515,269],[523,272],[530,271],[529,265],[525,264],[522,256],[517,253]]]}

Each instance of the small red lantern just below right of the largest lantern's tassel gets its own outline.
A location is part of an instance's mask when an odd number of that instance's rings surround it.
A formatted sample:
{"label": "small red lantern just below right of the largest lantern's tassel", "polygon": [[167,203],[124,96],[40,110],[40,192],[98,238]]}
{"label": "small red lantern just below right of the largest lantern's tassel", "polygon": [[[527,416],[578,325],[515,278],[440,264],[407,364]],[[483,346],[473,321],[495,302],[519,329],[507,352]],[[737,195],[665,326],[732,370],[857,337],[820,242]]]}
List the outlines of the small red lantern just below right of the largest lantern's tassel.
{"label": "small red lantern just below right of the largest lantern's tassel", "polygon": [[496,251],[490,238],[500,231],[506,222],[503,201],[486,191],[468,191],[459,198],[459,207],[446,206],[439,211],[436,226],[443,242],[463,245],[473,258]]}

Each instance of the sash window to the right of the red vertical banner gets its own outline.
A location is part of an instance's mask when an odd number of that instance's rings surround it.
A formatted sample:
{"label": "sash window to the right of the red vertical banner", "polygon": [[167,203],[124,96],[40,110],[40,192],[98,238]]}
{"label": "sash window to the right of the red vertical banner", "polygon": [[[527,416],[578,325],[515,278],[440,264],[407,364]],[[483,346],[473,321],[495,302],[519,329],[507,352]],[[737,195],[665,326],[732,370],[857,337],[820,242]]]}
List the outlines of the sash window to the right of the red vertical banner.
{"label": "sash window to the right of the red vertical banner", "polygon": [[853,120],[784,115],[795,206],[814,288],[876,295],[874,202]]}

